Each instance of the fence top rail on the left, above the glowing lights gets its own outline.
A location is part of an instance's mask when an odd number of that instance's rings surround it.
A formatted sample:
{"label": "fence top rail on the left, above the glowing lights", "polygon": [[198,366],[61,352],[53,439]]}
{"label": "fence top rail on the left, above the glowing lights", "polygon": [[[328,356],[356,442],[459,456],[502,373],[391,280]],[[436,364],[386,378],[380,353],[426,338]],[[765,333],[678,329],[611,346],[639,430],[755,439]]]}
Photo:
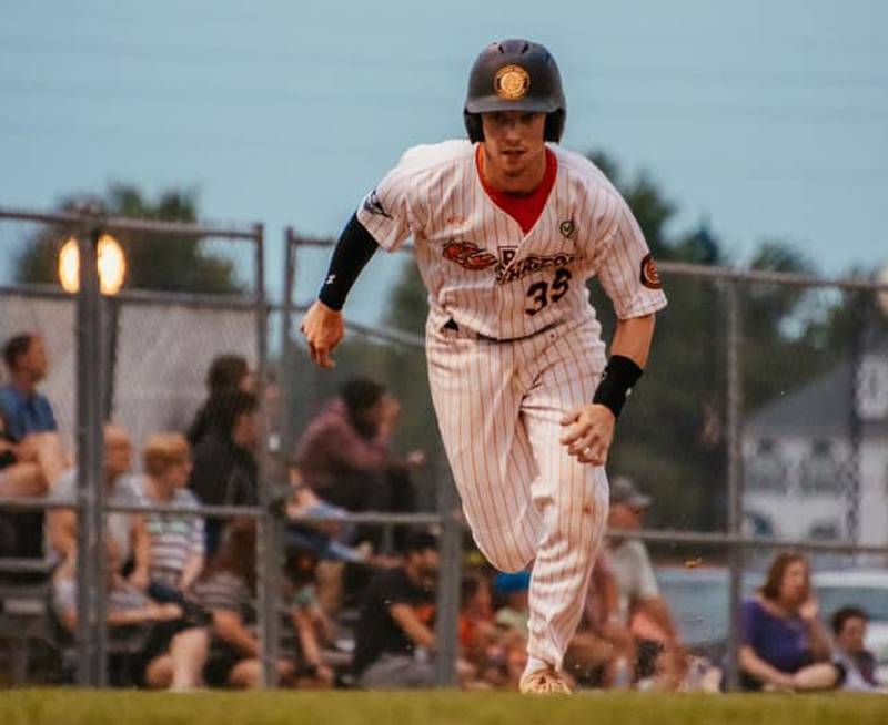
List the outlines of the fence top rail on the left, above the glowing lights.
{"label": "fence top rail on the left, above the glowing lights", "polygon": [[18,222],[42,222],[46,224],[60,224],[73,226],[94,223],[108,231],[127,232],[155,232],[158,234],[174,234],[178,236],[213,236],[229,239],[256,241],[261,234],[262,225],[253,224],[249,228],[224,227],[204,224],[190,224],[186,222],[164,222],[161,219],[137,219],[125,216],[104,216],[78,212],[31,212],[0,206],[0,219]]}

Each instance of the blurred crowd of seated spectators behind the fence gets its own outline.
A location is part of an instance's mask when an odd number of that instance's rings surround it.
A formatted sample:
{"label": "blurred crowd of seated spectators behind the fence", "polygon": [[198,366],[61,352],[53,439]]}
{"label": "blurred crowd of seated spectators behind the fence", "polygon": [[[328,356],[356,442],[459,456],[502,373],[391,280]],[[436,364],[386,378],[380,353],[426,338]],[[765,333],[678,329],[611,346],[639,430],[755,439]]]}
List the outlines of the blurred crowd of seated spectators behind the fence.
{"label": "blurred crowd of seated spectators behind the fence", "polygon": [[[0,509],[0,556],[47,562],[46,656],[29,662],[32,671],[27,674],[43,682],[71,682],[78,519],[64,504],[77,501],[78,471],[59,435],[52,402],[39,391],[49,366],[40,334],[27,331],[7,340],[3,359],[8,378],[0,388],[0,497],[46,498],[53,507],[37,512]],[[202,507],[259,502],[265,428],[258,390],[268,396],[271,387],[258,385],[245,358],[221,355],[209,367],[205,401],[185,430],[152,432],[141,450],[133,450],[128,430],[105,426],[108,503],[180,509],[105,517],[112,684],[260,686],[256,522],[206,515]],[[289,488],[281,558],[282,686],[435,683],[437,532],[347,520],[349,513],[410,513],[418,508],[416,480],[428,461],[423,450],[396,450],[401,412],[401,402],[384,384],[352,377],[313,411],[292,450],[283,451]],[[656,506],[633,479],[612,474],[610,535],[565,662],[579,687],[724,690],[724,632],[695,634],[685,611],[695,602],[682,598],[683,576],[697,574],[703,562],[655,569],[647,545],[634,535]],[[532,573],[495,572],[467,537],[462,556],[460,685],[514,690],[526,657]],[[0,575],[7,594],[17,584],[33,583],[32,573]],[[744,688],[881,686],[885,663],[867,647],[867,629],[871,616],[884,613],[870,612],[870,601],[855,599],[851,590],[846,601],[841,593],[830,595],[828,588],[818,590],[809,561],[793,552],[767,562],[746,589],[739,636]],[[884,589],[877,591],[884,596]],[[818,594],[826,595],[824,604]],[[7,678],[11,660],[4,658]]]}

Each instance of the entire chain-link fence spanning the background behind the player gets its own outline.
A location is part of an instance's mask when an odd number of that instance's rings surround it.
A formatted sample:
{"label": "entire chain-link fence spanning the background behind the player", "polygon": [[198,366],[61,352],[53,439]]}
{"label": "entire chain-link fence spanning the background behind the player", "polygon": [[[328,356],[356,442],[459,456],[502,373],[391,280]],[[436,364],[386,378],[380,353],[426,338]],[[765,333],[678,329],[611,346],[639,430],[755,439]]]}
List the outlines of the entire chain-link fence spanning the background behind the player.
{"label": "entire chain-link fence spanning the background behind the player", "polygon": [[[154,276],[130,277],[117,296],[100,297],[89,259],[105,233],[132,251],[133,275],[138,259],[175,263]],[[47,278],[48,267],[56,274],[57,253],[69,237],[78,239],[85,261],[75,297]],[[427,462],[413,472],[413,512],[336,514],[336,523],[376,524],[389,540],[394,527],[434,527],[443,533],[436,682],[455,683],[466,532],[431,408],[424,293],[410,264],[386,317],[391,326],[349,323],[337,367],[322,372],[297,335],[314,289],[294,290],[293,282],[297,253],[313,247],[327,254],[332,241],[301,239],[287,231],[281,306],[264,298],[261,227],[0,212],[0,243],[19,249],[44,245],[50,261],[42,267],[20,262],[16,280],[0,289],[0,333],[3,339],[19,333],[43,338],[50,365],[40,389],[52,401],[63,443],[82,472],[78,607],[85,614],[75,640],[79,683],[105,682],[102,663],[109,646],[113,650],[99,626],[107,605],[98,595],[104,575],[97,548],[105,509],[99,486],[102,421],[128,430],[135,451],[151,432],[184,430],[205,397],[208,367],[223,354],[242,356],[256,374],[265,412],[262,439],[269,446],[262,447],[256,500],[240,508],[223,502],[202,513],[248,513],[260,520],[256,591],[265,682],[275,682],[278,651],[286,646],[279,616],[285,602],[281,539],[289,535],[281,517],[282,484],[307,423],[345,380],[360,375],[384,382],[401,400],[396,452],[422,450]],[[153,255],[134,252],[142,245]],[[864,574],[884,571],[888,562],[888,324],[880,302],[886,292],[860,279],[682,264],[662,264],[662,272],[670,306],[658,315],[652,365],[620,418],[609,476],[629,477],[653,496],[647,520],[634,535],[652,551],[683,640],[723,660],[736,686],[741,598],[760,585],[775,551],[808,554],[825,616],[842,602],[865,604],[881,619],[878,600],[870,599],[878,576]],[[591,294],[609,339],[609,304],[597,287]],[[269,338],[281,343],[275,365],[265,360]],[[54,506],[27,496],[2,501],[16,511],[17,523],[27,521],[26,508]],[[132,510],[113,502],[109,508]],[[12,531],[18,545],[20,530]],[[21,647],[52,640],[52,633],[41,624],[47,563],[20,556],[14,545],[16,555],[0,559],[0,639],[19,647],[14,677],[22,682],[33,653]],[[28,589],[36,582],[42,583]]]}

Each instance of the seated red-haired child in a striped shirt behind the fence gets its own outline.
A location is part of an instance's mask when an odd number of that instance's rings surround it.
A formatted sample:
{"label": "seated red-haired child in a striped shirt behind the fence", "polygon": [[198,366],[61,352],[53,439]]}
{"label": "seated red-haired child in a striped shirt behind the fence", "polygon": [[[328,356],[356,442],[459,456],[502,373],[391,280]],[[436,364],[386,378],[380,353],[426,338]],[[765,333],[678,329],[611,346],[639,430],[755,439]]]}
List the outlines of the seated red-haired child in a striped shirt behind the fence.
{"label": "seated red-haired child in a striped shirt behind the fence", "polygon": [[[180,433],[154,433],[143,452],[144,474],[130,483],[144,506],[198,510],[200,502],[185,489],[191,473],[188,441]],[[178,513],[144,514],[151,542],[149,594],[161,602],[181,602],[203,569],[203,518]]]}

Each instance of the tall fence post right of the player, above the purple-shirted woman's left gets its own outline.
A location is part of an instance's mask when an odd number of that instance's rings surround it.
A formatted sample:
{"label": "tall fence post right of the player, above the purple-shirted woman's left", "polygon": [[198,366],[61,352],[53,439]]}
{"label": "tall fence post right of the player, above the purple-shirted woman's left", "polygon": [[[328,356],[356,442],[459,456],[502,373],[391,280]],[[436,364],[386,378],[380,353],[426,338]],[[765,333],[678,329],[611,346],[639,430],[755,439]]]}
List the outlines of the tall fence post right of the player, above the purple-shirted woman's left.
{"label": "tall fence post right of the player, above the purple-shirted woman's left", "polygon": [[[727,469],[728,469],[728,533],[743,534],[743,369],[740,365],[740,300],[736,280],[727,280]],[[743,598],[743,570],[745,550],[731,543],[728,584],[727,686],[739,688],[738,651],[740,646],[740,606]]]}

